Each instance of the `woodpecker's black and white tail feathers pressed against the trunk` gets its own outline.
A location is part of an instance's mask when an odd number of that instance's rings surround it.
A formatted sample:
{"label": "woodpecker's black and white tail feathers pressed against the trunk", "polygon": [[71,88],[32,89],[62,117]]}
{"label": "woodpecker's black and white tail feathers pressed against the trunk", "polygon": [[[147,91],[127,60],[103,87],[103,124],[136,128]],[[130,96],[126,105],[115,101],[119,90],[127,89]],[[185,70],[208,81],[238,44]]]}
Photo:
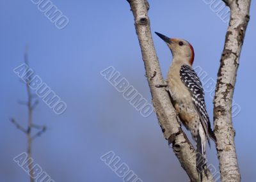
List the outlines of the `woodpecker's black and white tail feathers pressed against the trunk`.
{"label": "woodpecker's black and white tail feathers pressed against the trunk", "polygon": [[205,163],[205,145],[203,144],[200,135],[196,137],[196,171],[198,172],[200,181],[203,179],[203,171],[205,176],[207,176]]}

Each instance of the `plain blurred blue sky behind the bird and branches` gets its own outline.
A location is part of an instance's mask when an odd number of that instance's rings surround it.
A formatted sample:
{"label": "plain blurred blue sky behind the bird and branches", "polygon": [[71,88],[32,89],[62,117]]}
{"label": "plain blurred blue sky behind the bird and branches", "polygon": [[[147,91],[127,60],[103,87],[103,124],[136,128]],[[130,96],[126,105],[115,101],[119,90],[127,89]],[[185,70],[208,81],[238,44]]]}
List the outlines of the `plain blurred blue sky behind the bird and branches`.
{"label": "plain blurred blue sky behind the bird and branches", "polygon": [[[163,138],[153,113],[143,118],[115,87],[100,75],[114,66],[147,100],[151,96],[145,78],[134,19],[124,1],[52,1],[69,19],[57,29],[31,1],[0,1],[0,181],[27,182],[29,176],[13,158],[26,151],[26,135],[10,123],[22,126],[27,108],[26,87],[13,68],[24,61],[28,44],[29,63],[36,74],[67,103],[56,115],[42,100],[33,121],[47,132],[33,142],[33,159],[54,181],[122,181],[100,160],[114,151],[144,182],[188,181],[180,163]],[[216,80],[227,24],[201,1],[149,1],[152,31],[184,38],[195,49],[195,66]],[[255,181],[255,31],[256,3],[246,31],[237,73],[234,100],[241,112],[233,118],[242,181]],[[170,50],[153,34],[164,77],[171,63]],[[212,98],[205,94],[212,122]],[[189,134],[190,135],[190,134]],[[214,146],[214,145],[212,145]],[[216,149],[207,158],[218,168]]]}

